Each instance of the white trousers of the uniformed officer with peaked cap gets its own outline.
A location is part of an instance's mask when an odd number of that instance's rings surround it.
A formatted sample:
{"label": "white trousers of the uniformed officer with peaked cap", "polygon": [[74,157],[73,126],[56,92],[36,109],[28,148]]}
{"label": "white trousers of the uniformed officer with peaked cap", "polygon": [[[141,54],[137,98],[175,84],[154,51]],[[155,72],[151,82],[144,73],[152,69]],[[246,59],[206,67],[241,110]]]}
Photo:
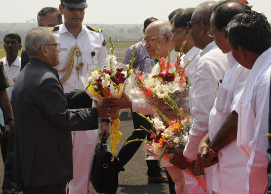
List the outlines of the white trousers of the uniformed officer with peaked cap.
{"label": "white trousers of the uniformed officer with peaked cap", "polygon": [[68,194],[88,194],[98,131],[95,129],[71,132],[73,179],[68,184]]}

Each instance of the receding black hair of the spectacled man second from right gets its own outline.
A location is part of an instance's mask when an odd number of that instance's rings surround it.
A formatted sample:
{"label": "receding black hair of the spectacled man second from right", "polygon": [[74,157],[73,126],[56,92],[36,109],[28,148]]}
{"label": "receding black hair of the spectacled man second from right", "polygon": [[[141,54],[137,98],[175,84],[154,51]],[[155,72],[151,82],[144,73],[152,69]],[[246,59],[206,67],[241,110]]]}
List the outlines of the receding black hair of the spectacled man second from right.
{"label": "receding black hair of the spectacled man second from right", "polygon": [[[235,2],[237,6],[229,6],[229,3]],[[214,14],[214,25],[219,31],[227,26],[229,21],[237,14],[243,13],[251,8],[242,1],[237,0],[225,0],[213,9]]]}

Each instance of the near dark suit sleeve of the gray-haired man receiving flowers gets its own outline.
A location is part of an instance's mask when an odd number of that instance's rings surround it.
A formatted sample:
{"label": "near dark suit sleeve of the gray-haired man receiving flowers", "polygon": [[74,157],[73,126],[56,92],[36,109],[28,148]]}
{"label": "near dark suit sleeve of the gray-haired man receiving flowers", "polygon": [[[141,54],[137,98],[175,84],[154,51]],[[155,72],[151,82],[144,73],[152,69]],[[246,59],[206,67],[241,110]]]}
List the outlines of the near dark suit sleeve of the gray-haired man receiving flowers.
{"label": "near dark suit sleeve of the gray-haired man receiving flowers", "polygon": [[36,99],[44,116],[63,129],[92,130],[99,127],[99,115],[96,108],[69,110],[63,89],[57,78],[52,75],[43,76]]}

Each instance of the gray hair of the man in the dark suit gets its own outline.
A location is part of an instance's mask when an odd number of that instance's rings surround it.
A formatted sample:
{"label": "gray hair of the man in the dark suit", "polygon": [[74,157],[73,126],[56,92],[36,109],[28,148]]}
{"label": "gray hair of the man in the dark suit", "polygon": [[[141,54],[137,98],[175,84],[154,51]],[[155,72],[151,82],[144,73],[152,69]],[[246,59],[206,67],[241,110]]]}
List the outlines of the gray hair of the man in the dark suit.
{"label": "gray hair of the man in the dark suit", "polygon": [[47,27],[31,29],[25,38],[25,48],[29,56],[34,56],[42,44],[48,44],[51,39],[51,30]]}

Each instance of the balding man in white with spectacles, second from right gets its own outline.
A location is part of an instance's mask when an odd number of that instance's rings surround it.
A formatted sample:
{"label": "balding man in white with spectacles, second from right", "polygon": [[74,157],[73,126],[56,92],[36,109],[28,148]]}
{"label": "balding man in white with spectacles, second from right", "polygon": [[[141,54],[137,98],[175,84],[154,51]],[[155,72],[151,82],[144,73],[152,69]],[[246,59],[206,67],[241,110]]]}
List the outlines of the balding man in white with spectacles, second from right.
{"label": "balding man in white with spectacles, second from right", "polygon": [[[230,19],[246,10],[251,10],[251,8],[243,2],[223,1],[214,8],[210,19],[209,36],[214,37],[214,41],[223,53],[227,53],[230,69],[223,81],[219,83],[217,98],[209,116],[209,130],[199,146],[198,159],[203,161],[204,167],[208,166],[205,165],[208,144],[235,109],[250,72],[233,58],[226,37],[226,26]],[[237,150],[236,141],[221,149],[218,152],[218,158],[219,163],[214,164],[210,172],[212,174],[210,193],[211,191],[213,194],[242,193],[246,187],[245,162]],[[211,165],[212,160],[209,161]],[[233,187],[235,184],[238,187]]]}

